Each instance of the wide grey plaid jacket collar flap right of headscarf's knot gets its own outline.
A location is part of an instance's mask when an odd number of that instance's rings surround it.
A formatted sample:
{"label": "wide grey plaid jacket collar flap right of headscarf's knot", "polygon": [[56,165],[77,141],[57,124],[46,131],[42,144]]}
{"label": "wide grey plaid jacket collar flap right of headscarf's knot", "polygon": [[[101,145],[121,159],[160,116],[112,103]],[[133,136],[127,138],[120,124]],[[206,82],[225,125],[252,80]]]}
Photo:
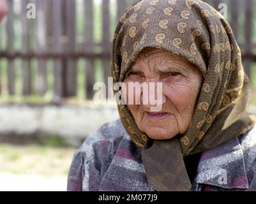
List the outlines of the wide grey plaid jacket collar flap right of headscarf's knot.
{"label": "wide grey plaid jacket collar flap right of headscarf's knot", "polygon": [[238,138],[203,152],[194,182],[225,189],[248,189],[245,158]]}

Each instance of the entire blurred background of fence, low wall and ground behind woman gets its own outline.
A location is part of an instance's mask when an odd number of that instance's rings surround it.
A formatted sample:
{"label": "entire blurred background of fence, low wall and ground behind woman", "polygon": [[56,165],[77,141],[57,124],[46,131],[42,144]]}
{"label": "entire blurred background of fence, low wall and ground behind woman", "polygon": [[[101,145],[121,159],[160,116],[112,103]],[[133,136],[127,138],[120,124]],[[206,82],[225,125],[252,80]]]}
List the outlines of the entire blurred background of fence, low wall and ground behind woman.
{"label": "entire blurred background of fence, low wall and ground behind woman", "polygon": [[[114,29],[133,2],[7,0],[0,24],[0,191],[65,191],[75,150],[118,118],[115,104],[93,103],[93,85],[107,84]],[[227,6],[256,113],[256,0],[206,2],[218,11]]]}

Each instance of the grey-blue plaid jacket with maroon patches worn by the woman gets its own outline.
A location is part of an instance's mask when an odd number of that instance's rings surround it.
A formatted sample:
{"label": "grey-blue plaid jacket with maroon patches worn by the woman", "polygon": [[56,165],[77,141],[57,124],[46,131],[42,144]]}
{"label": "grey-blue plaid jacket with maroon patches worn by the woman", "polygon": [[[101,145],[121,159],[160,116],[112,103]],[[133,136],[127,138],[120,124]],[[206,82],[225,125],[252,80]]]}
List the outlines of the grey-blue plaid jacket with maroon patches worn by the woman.
{"label": "grey-blue plaid jacket with maroon patches worn by the woman", "polygon": [[[256,127],[202,152],[192,191],[256,191]],[[86,138],[73,157],[68,191],[154,191],[141,150],[120,120]]]}

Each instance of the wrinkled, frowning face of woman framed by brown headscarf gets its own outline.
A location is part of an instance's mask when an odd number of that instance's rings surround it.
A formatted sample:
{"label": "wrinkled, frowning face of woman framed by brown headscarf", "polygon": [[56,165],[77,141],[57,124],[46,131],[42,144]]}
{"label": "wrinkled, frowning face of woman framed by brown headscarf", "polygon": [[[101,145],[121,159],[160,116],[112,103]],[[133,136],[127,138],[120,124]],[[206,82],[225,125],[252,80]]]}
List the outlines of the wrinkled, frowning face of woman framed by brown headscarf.
{"label": "wrinkled, frowning face of woman framed by brown headscarf", "polygon": [[[143,104],[144,92],[129,96],[128,82],[162,82],[162,110],[151,112],[155,105]],[[141,52],[133,66],[126,72],[124,84],[127,96],[139,97],[140,105],[128,105],[133,118],[140,129],[150,138],[165,140],[186,133],[192,121],[193,112],[202,84],[202,75],[198,68],[185,59],[171,55],[167,51],[150,48]],[[150,96],[151,92],[149,92]]]}

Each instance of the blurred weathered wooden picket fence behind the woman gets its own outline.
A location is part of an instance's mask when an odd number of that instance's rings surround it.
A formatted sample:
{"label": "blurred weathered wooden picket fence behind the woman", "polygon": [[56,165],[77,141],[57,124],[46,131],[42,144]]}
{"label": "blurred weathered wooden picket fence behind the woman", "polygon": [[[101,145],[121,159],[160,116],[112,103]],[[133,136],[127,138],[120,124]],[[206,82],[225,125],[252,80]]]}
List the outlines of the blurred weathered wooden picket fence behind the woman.
{"label": "blurred weathered wooden picket fence behind the woman", "polygon": [[[253,54],[255,1],[207,1],[216,10],[220,10],[220,3],[227,4],[229,22],[243,51],[244,66],[249,75],[252,62],[256,61]],[[133,2],[8,0],[8,16],[0,27],[0,94],[6,92],[15,96],[20,89],[22,96],[43,95],[52,89],[53,98],[77,96],[77,80],[82,75],[84,84],[80,89],[87,99],[93,98],[93,84],[98,80],[96,61],[101,62],[97,70],[107,82],[112,34],[117,20]],[[36,5],[35,19],[26,16],[29,3]],[[79,72],[80,59],[84,64]],[[52,64],[49,65],[49,61]],[[6,69],[2,69],[3,64]],[[17,69],[21,70],[20,77],[17,77]],[[52,70],[50,74],[49,69]],[[49,86],[51,80],[52,86]]]}

